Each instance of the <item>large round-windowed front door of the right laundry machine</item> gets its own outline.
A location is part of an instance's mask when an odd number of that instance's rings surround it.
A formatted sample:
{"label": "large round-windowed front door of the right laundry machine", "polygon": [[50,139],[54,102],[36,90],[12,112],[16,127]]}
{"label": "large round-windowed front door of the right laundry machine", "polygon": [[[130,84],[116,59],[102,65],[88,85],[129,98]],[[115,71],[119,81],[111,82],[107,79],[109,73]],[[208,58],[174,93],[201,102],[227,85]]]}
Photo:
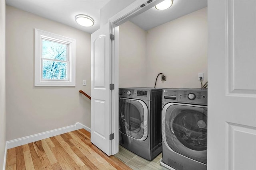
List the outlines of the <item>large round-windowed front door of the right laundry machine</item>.
{"label": "large round-windowed front door of the right laundry machine", "polygon": [[163,107],[162,120],[166,146],[207,164],[207,106],[169,103]]}

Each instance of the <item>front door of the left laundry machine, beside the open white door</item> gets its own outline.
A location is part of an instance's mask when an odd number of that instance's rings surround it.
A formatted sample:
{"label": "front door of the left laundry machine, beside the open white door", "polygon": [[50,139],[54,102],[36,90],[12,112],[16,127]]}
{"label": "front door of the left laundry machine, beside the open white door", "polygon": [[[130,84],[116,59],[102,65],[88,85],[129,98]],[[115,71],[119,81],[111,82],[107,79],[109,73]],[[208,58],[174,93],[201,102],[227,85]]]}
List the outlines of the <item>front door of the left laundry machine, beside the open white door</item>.
{"label": "front door of the left laundry machine, beside the open white door", "polygon": [[119,98],[119,131],[138,141],[148,137],[148,107],[142,100]]}

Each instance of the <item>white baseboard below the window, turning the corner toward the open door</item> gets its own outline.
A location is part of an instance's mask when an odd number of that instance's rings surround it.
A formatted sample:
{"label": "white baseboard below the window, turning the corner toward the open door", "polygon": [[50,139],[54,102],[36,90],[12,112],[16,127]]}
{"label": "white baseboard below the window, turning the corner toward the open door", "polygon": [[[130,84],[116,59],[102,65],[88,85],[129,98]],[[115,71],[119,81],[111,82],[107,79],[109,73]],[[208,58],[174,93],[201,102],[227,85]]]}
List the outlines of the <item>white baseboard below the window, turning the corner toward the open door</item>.
{"label": "white baseboard below the window, turning the corner toward the open door", "polygon": [[54,129],[54,130],[51,130],[51,131],[46,131],[46,132],[43,132],[43,133],[38,133],[38,134],[35,134],[35,135],[30,135],[30,136],[27,136],[27,137],[22,137],[22,138],[19,138],[19,139],[14,139],[14,140],[11,140],[11,141],[7,141],[6,142],[6,150],[10,149],[10,148],[21,146],[21,145],[25,145],[25,144],[28,144],[28,143],[32,143],[32,142],[35,142],[35,141],[40,141],[42,139],[46,139],[46,138],[49,138],[49,137],[54,137],[56,135],[61,135],[63,133],[68,133],[68,132],[71,132],[71,131],[75,131],[75,130],[78,130],[78,129],[85,129],[89,132],[91,131],[91,129],[89,127],[83,125],[82,123],[77,122],[75,125],[62,127],[62,128],[59,128],[59,129]]}

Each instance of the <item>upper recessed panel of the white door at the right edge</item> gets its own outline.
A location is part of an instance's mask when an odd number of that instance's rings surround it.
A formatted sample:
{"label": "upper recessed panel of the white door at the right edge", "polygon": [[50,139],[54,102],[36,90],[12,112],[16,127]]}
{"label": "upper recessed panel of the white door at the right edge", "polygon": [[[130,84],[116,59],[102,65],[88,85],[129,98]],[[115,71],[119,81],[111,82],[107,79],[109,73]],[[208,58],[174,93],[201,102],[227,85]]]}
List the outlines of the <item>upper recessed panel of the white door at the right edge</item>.
{"label": "upper recessed panel of the white door at the right edge", "polygon": [[228,92],[256,97],[256,1],[228,0],[227,6]]}

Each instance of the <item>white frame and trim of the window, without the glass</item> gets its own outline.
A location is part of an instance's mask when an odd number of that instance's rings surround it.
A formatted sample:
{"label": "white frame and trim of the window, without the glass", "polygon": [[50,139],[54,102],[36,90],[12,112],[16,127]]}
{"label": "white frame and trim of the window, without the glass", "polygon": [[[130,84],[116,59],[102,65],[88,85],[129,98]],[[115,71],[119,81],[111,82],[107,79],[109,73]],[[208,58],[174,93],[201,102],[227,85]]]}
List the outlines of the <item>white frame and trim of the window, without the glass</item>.
{"label": "white frame and trim of the window, without the glass", "polygon": [[[42,79],[42,39],[67,45],[67,80]],[[35,29],[35,86],[76,86],[76,40]]]}

